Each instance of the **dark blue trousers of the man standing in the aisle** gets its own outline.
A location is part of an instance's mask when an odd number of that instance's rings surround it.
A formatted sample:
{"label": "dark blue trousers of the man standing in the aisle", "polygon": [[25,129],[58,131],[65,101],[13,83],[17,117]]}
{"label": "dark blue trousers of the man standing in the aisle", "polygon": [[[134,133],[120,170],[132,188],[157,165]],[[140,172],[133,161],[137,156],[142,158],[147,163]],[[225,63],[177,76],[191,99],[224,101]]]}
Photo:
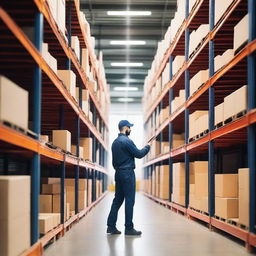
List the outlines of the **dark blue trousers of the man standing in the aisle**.
{"label": "dark blue trousers of the man standing in the aisle", "polygon": [[125,228],[133,228],[133,206],[135,203],[136,180],[133,169],[117,170],[115,173],[116,191],[108,216],[108,227],[115,228],[118,210],[125,199]]}

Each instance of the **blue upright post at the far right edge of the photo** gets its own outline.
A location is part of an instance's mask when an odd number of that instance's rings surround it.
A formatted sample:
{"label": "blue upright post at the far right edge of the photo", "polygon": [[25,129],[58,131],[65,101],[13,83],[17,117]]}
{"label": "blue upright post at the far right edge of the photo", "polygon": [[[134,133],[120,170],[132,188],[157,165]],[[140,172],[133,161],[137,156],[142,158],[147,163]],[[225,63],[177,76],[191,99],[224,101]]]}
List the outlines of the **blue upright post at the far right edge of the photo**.
{"label": "blue upright post at the far right edge of the photo", "polygon": [[[248,0],[248,13],[249,13],[249,42],[252,42],[256,38],[256,6],[254,0]],[[247,66],[248,66],[248,111],[256,108],[256,79],[255,79],[255,70],[256,70],[256,55],[255,52],[250,54],[247,57]],[[256,125],[250,125],[247,128],[247,148],[248,148],[248,167],[250,170],[250,200],[249,200],[249,231],[255,233],[256,225]]]}

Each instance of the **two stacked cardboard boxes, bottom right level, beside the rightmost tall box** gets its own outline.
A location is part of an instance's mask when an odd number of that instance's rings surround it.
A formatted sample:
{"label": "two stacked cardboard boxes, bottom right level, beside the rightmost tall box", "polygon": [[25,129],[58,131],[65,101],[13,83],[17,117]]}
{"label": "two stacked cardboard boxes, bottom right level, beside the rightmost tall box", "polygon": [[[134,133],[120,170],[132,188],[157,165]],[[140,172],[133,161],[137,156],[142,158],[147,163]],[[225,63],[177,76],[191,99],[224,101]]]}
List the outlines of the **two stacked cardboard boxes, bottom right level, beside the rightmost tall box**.
{"label": "two stacked cardboard boxes, bottom right level, beside the rightmost tall box", "polygon": [[215,215],[224,219],[238,218],[238,175],[215,175]]}

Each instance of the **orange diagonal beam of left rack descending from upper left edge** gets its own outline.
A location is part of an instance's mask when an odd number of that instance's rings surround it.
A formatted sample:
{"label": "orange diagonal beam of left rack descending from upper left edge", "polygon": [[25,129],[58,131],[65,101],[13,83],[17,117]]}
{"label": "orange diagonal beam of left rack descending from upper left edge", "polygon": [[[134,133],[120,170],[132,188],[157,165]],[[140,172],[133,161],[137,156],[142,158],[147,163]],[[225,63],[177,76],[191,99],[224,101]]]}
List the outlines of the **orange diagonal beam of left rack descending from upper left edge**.
{"label": "orange diagonal beam of left rack descending from upper left edge", "polygon": [[34,45],[29,41],[26,35],[22,32],[22,30],[15,24],[15,22],[11,19],[11,17],[3,10],[0,9],[0,18],[5,22],[6,26],[12,31],[13,35],[20,41],[20,43],[24,46],[24,48],[29,52],[29,54],[33,57],[34,61],[41,67],[44,73],[49,77],[49,79],[56,86],[58,91],[62,94],[65,100],[72,107],[74,112],[81,118],[83,123],[90,129],[90,131],[94,134],[94,136],[98,139],[98,141],[107,149],[106,143],[103,141],[101,134],[97,131],[96,127],[88,120],[88,118],[84,115],[81,108],[78,106],[78,103],[75,99],[70,95],[68,90],[63,86],[62,82],[55,74],[55,72],[48,66],[46,61],[42,58],[41,54],[36,50]]}

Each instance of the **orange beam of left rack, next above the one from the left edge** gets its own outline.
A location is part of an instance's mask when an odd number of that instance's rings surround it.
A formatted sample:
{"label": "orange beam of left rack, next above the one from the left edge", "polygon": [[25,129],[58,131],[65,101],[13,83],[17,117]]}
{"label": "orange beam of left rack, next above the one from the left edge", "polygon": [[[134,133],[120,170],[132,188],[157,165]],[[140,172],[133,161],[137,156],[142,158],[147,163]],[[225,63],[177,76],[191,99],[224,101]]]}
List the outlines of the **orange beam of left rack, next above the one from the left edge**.
{"label": "orange beam of left rack, next above the one from the left edge", "polygon": [[[76,73],[79,74],[80,79],[82,80],[83,84],[86,86],[86,89],[89,90],[90,92],[90,97],[93,100],[94,105],[97,108],[97,111],[100,114],[101,119],[104,121],[104,124],[106,125],[106,127],[108,128],[108,122],[106,120],[106,116],[105,114],[102,112],[102,108],[99,104],[99,102],[97,101],[94,93],[92,92],[91,88],[89,88],[87,86],[87,81],[88,78],[86,76],[86,74],[84,73],[84,71],[81,68],[80,63],[77,60],[77,57],[75,56],[75,53],[73,52],[73,50],[67,45],[66,40],[64,39],[63,35],[59,32],[58,27],[56,25],[56,23],[54,22],[54,19],[50,13],[49,7],[46,3],[46,1],[41,1],[41,0],[35,0],[35,4],[38,6],[38,9],[42,11],[45,19],[47,20],[49,26],[52,29],[52,32],[54,33],[54,35],[57,37],[61,47],[63,48],[66,56],[68,58],[71,59],[72,64],[75,67]],[[86,38],[86,37],[85,37]],[[92,51],[90,51],[90,56],[92,56]]]}

